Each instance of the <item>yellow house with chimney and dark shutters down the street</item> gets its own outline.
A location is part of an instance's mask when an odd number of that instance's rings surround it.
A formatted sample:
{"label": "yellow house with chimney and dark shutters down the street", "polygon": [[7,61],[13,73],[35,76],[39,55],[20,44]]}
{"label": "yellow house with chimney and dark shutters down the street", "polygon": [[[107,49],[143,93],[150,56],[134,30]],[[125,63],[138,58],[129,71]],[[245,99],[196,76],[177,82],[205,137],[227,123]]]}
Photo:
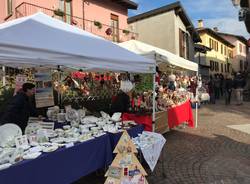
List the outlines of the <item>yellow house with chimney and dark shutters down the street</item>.
{"label": "yellow house with chimney and dark shutters down the street", "polygon": [[197,31],[200,34],[202,45],[211,49],[206,54],[209,75],[231,74],[234,45],[221,37],[216,30],[204,28],[202,20],[199,20]]}

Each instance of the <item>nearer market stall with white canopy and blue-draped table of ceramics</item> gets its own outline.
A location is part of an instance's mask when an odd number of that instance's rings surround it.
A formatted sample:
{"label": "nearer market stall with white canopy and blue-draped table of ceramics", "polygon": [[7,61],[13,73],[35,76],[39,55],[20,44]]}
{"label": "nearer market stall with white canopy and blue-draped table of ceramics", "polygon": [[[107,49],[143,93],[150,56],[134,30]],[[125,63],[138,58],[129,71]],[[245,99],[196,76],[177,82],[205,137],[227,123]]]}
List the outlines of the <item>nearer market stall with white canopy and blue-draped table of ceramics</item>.
{"label": "nearer market stall with white canopy and blue-draped table of ceramics", "polygon": [[[60,66],[63,69],[84,71],[134,73],[154,73],[155,70],[154,60],[136,55],[43,13],[0,25],[0,64],[17,68],[57,69]],[[61,119],[59,108],[49,109],[49,111],[51,118],[54,116],[54,111],[57,111],[57,120]],[[0,153],[5,157],[1,159],[1,169],[9,167],[0,171],[1,182],[6,184],[71,183],[83,175],[105,167],[111,161],[110,140],[114,140],[115,143],[116,138],[110,138],[111,134],[99,131],[98,127],[115,133],[121,130],[121,124],[117,122],[119,117],[114,120],[115,117],[108,117],[105,114],[99,118],[85,116],[84,109],[77,111],[73,108],[69,108],[66,114],[66,119],[71,122],[71,125],[64,125],[63,129],[57,131],[45,133],[40,131],[39,137],[38,135],[36,137],[37,142],[35,141],[40,147],[32,147],[30,150],[27,135],[20,135],[18,128],[15,139],[19,138],[18,140],[21,141],[20,149],[14,148],[13,139],[11,144],[7,141],[4,146],[1,142],[3,148],[0,149]],[[92,122],[91,126],[89,122]],[[79,125],[80,123],[82,126]],[[40,124],[52,127],[47,122],[40,122]],[[126,127],[131,126],[126,125]],[[32,133],[36,128],[37,125],[27,132]],[[140,128],[136,133],[139,131],[141,132]],[[53,139],[55,134],[61,137]],[[33,138],[29,136],[29,140]],[[6,152],[5,146],[10,146],[14,150]],[[60,148],[61,146],[65,148]],[[26,150],[25,153],[24,150]],[[53,153],[41,155],[41,152],[45,151]],[[28,160],[36,159],[19,162],[23,159],[23,154]]]}

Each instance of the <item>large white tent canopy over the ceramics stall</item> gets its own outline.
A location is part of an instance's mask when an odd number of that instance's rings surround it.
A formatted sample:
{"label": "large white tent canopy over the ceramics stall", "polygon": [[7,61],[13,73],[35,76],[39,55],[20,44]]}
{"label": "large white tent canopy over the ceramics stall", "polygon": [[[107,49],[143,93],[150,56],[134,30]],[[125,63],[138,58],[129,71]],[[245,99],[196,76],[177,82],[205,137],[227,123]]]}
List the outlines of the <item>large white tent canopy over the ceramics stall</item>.
{"label": "large white tent canopy over the ceramics stall", "polygon": [[155,61],[43,13],[0,24],[0,64],[153,73]]}

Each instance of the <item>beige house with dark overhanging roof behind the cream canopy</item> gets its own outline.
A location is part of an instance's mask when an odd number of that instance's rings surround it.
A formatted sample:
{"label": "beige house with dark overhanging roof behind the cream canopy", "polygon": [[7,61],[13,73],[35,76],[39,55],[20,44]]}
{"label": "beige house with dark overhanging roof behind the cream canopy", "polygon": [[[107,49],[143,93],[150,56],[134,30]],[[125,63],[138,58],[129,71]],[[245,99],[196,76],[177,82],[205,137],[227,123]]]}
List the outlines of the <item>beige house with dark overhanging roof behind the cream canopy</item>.
{"label": "beige house with dark overhanging roof behind the cream canopy", "polygon": [[129,27],[138,40],[194,61],[199,35],[180,2],[130,17]]}

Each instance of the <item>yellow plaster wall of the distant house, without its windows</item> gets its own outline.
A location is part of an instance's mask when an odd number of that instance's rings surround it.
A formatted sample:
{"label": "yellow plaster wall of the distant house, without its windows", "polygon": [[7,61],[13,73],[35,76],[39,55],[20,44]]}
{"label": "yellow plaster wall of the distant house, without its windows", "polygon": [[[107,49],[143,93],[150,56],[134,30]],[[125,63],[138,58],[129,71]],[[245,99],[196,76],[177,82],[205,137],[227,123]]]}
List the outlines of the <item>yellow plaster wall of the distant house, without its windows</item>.
{"label": "yellow plaster wall of the distant house, without its windows", "polygon": [[[222,73],[222,74],[228,74],[231,73],[232,71],[232,67],[231,67],[231,63],[232,63],[232,58],[229,57],[229,51],[233,52],[233,48],[228,47],[227,45],[225,45],[224,43],[222,43],[221,41],[217,40],[216,38],[210,36],[209,34],[206,33],[202,33],[200,34],[201,40],[202,40],[202,45],[205,45],[206,47],[210,48],[210,39],[218,42],[218,51],[216,51],[215,49],[212,49],[211,51],[208,51],[206,54],[206,64],[210,66],[210,61],[215,61],[218,62],[219,64],[219,71],[211,71],[211,69],[209,70],[209,74],[213,75],[216,73]],[[221,52],[221,45],[223,45],[223,53]],[[226,54],[225,54],[225,47],[226,47]],[[230,64],[230,68],[229,68],[229,72],[225,71],[225,65],[229,63]],[[223,71],[221,70],[221,64],[223,64]]]}

